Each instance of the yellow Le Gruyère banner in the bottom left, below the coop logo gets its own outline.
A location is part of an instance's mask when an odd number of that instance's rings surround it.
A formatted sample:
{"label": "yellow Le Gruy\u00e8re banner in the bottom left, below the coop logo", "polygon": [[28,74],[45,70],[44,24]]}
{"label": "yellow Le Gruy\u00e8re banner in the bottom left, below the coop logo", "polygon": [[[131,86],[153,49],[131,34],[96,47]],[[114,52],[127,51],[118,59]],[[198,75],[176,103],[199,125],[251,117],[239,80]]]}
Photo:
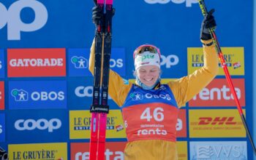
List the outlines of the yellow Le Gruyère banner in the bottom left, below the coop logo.
{"label": "yellow Le Gruy\u00e8re banner in the bottom left, below the coop logo", "polygon": [[9,159],[67,159],[67,143],[33,143],[8,145]]}

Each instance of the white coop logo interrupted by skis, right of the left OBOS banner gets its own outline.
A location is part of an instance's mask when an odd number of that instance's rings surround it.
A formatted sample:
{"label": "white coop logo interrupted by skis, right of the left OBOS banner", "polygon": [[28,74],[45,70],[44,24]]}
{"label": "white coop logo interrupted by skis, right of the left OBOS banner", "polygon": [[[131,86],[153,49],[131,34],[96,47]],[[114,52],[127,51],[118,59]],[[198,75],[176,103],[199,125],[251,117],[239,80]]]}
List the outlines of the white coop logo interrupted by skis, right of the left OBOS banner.
{"label": "white coop logo interrupted by skis, right of the left OBOS banner", "polygon": [[[78,86],[75,88],[75,95],[78,97],[92,97],[93,95],[93,89],[92,86]],[[108,99],[110,100],[111,97],[108,95]]]}

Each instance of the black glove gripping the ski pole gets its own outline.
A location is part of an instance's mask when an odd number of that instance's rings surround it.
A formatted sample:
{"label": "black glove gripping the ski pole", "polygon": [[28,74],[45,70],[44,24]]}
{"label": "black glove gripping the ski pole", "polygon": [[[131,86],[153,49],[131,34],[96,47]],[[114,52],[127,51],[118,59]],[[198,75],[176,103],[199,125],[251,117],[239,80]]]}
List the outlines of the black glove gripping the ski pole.
{"label": "black glove gripping the ski pole", "polygon": [[200,29],[200,39],[202,40],[209,40],[211,39],[210,29],[216,28],[216,22],[214,20],[214,16],[212,15],[214,13],[214,9],[211,9],[210,12],[206,14],[206,16],[203,19],[201,29]]}

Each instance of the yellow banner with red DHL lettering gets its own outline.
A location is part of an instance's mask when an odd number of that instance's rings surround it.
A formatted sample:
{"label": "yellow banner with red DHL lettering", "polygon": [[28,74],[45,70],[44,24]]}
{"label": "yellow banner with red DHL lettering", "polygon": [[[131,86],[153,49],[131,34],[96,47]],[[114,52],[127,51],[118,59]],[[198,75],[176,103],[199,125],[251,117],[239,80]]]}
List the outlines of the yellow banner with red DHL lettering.
{"label": "yellow banner with red DHL lettering", "polygon": [[246,137],[246,132],[236,109],[190,110],[189,137]]}

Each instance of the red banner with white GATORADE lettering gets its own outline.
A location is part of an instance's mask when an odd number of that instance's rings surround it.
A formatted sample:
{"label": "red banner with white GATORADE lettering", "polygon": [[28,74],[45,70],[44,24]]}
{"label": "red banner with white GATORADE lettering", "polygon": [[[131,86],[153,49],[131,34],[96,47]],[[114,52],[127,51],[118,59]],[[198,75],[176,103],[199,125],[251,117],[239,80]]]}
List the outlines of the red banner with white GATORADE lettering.
{"label": "red banner with white GATORADE lettering", "polygon": [[8,77],[66,76],[64,48],[7,49]]}

